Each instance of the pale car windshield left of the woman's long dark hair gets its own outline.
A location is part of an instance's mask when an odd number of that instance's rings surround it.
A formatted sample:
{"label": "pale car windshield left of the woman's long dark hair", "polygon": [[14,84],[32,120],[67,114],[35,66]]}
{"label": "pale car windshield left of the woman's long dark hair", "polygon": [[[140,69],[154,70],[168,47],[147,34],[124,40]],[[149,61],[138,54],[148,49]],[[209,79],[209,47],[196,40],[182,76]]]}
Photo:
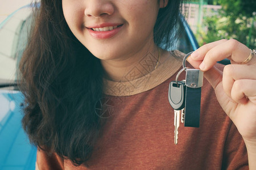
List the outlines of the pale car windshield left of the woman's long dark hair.
{"label": "pale car windshield left of the woman's long dark hair", "polygon": [[15,80],[17,59],[27,44],[31,8],[25,7],[10,15],[0,25],[0,79]]}

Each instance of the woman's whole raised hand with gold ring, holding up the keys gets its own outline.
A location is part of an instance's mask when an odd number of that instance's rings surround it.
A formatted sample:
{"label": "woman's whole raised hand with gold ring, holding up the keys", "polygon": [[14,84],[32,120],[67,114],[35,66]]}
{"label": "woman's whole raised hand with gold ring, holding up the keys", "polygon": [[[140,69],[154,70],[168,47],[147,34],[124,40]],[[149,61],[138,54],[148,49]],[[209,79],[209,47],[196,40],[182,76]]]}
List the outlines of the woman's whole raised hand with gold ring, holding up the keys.
{"label": "woman's whole raised hand with gold ring, holding up the keys", "polygon": [[[221,107],[237,126],[247,151],[256,153],[256,55],[242,64],[250,52],[236,40],[220,40],[201,46],[188,61],[205,71],[205,78],[212,84]],[[229,58],[232,64],[226,65],[222,73],[214,65],[224,58]],[[256,160],[254,156],[251,159]]]}

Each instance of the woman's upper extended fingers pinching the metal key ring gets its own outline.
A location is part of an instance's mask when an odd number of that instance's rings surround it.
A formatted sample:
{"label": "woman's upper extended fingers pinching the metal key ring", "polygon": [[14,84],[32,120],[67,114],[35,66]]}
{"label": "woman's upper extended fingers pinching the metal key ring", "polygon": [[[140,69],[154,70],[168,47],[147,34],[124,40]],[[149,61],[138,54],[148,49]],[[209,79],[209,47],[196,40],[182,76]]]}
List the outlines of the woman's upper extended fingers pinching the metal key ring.
{"label": "woman's upper extended fingers pinching the metal key ring", "polygon": [[[229,58],[234,63],[241,63],[249,56],[250,49],[237,40],[220,40],[201,46],[191,54],[192,62],[200,64],[201,70],[209,70],[217,61]],[[253,58],[255,59],[255,57]]]}

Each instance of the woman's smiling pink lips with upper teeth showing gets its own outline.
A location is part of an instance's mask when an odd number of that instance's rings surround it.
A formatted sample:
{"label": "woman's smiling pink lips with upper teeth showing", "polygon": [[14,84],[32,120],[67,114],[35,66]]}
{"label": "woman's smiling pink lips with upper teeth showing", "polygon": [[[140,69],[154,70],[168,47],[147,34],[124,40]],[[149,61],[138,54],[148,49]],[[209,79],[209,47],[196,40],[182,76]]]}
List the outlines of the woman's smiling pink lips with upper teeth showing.
{"label": "woman's smiling pink lips with upper teeth showing", "polygon": [[99,26],[90,27],[87,29],[90,35],[95,39],[109,39],[110,37],[113,37],[114,35],[116,35],[121,28],[122,28],[122,24],[121,25],[101,24]]}

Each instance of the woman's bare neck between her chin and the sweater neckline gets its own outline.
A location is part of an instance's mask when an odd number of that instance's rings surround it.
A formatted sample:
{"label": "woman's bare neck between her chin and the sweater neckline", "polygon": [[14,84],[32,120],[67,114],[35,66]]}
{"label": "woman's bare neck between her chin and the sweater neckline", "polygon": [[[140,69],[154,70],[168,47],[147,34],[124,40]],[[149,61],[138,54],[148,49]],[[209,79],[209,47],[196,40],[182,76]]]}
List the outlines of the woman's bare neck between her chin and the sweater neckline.
{"label": "woman's bare neck between her chin and the sweater neckline", "polygon": [[159,65],[159,58],[162,56],[159,56],[159,53],[163,52],[157,46],[150,49],[122,57],[125,59],[101,60],[106,78],[115,82],[126,82],[151,73]]}

